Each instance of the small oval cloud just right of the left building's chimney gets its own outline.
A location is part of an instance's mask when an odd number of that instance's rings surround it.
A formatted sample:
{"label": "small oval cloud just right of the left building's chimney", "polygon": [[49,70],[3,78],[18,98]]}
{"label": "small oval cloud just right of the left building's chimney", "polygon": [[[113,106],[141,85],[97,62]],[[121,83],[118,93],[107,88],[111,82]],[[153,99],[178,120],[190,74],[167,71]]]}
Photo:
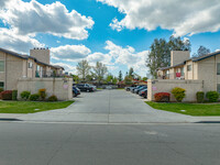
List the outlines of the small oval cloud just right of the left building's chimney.
{"label": "small oval cloud just right of the left building's chimney", "polygon": [[86,58],[91,51],[85,45],[65,45],[51,48],[52,57],[55,59],[76,62]]}

